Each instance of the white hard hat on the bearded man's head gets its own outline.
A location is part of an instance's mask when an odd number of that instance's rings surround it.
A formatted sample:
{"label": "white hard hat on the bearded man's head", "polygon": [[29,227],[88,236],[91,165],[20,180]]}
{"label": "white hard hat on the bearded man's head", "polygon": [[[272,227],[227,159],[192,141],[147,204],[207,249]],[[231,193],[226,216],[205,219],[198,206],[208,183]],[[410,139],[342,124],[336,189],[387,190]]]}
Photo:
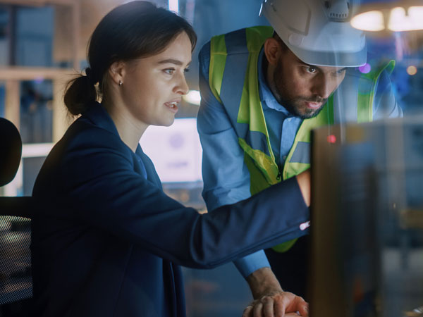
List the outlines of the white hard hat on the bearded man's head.
{"label": "white hard hat on the bearded man's head", "polygon": [[366,39],[350,25],[348,0],[264,0],[262,14],[307,64],[355,67],[367,61]]}

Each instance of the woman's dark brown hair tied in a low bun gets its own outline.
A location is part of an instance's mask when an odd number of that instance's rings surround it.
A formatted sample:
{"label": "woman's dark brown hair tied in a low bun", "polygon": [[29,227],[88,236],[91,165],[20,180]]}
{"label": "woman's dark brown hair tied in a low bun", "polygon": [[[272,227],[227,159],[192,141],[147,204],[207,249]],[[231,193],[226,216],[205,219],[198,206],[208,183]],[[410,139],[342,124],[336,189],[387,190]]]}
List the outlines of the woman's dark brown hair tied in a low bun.
{"label": "woman's dark brown hair tied in a low bun", "polygon": [[87,75],[68,82],[64,98],[68,111],[76,116],[97,100],[97,89],[104,94],[104,78],[112,63],[159,54],[182,32],[190,38],[193,50],[197,35],[190,23],[176,13],[148,1],[132,1],[114,8],[92,33]]}

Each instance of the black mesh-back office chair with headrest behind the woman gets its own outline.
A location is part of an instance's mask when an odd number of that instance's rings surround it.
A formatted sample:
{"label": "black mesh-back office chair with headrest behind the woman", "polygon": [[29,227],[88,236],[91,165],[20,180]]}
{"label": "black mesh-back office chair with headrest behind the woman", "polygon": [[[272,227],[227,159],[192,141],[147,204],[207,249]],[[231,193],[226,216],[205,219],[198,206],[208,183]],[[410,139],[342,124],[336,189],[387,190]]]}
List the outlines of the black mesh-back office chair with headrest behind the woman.
{"label": "black mesh-back office chair with headrest behind the woman", "polygon": [[[22,140],[0,118],[0,187],[15,178]],[[0,197],[0,317],[25,316],[32,297],[30,213],[32,197]]]}

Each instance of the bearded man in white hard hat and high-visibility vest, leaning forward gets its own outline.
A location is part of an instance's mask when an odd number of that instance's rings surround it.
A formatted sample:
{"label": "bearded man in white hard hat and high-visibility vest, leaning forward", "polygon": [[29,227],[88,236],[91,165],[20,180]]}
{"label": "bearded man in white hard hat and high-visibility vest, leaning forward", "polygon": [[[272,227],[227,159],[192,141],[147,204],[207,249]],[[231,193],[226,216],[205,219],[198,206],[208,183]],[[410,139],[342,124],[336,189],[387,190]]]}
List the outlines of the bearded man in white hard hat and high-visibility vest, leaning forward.
{"label": "bearded man in white hard hat and high-visibility vest, leaning forward", "polygon": [[[367,61],[364,35],[348,22],[350,9],[346,0],[264,1],[272,27],[219,35],[204,45],[197,128],[209,211],[307,170],[312,128],[401,116],[388,78],[393,62]],[[360,73],[363,65],[370,71]],[[283,290],[304,297],[307,237],[266,254]],[[256,299],[245,316],[253,307],[274,311],[293,299],[263,251],[235,266]]]}

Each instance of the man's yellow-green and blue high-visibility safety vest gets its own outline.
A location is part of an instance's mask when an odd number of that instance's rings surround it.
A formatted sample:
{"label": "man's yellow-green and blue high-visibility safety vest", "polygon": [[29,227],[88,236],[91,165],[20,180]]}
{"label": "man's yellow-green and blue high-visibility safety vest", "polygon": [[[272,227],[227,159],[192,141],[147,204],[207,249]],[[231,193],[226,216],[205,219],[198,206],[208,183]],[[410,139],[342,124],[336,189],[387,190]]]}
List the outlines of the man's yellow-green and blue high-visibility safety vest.
{"label": "man's yellow-green and blue high-visibility safety vest", "polygon": [[[384,68],[393,69],[394,63],[360,75],[348,75],[343,87],[353,90],[356,102],[343,111],[343,100],[350,102],[345,88],[338,88],[319,115],[303,120],[295,135],[282,173],[271,150],[262,103],[259,98],[258,58],[267,38],[273,35],[271,27],[248,27],[226,35],[213,37],[210,42],[209,85],[217,100],[226,109],[233,128],[244,150],[244,161],[250,171],[250,192],[256,194],[270,185],[291,178],[309,168],[309,142],[312,129],[343,121],[343,114],[353,113],[356,122],[371,121],[376,82]],[[347,77],[347,76],[345,76]],[[345,90],[343,92],[343,89]],[[358,94],[357,94],[358,91]],[[346,98],[346,99],[344,99]],[[348,114],[348,113],[347,113]],[[287,251],[295,240],[278,244],[276,251]]]}

